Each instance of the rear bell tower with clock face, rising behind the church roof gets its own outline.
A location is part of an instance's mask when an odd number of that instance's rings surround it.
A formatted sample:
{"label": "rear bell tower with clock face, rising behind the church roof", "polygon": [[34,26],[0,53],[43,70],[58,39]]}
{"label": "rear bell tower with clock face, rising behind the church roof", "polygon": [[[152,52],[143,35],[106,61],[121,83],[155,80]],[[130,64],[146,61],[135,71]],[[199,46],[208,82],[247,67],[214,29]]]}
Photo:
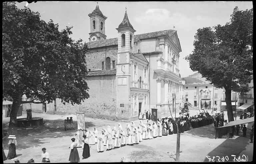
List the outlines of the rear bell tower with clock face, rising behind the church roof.
{"label": "rear bell tower with clock face, rising behind the church roof", "polygon": [[100,41],[107,38],[105,35],[105,20],[106,16],[102,14],[97,2],[95,10],[88,15],[90,17],[90,33],[89,41]]}

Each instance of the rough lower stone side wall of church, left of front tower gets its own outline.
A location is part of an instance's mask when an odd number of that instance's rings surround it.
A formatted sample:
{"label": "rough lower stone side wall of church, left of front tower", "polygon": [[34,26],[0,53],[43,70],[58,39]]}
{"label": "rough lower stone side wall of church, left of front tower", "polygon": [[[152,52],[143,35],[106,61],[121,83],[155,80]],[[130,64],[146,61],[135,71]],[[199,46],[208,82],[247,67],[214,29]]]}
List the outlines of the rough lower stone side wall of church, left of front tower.
{"label": "rough lower stone side wall of church, left of front tower", "polygon": [[[86,82],[89,86],[90,97],[80,105],[61,103],[56,100],[57,113],[60,115],[85,112],[86,117],[116,119],[116,75],[88,76]],[[54,102],[47,104],[47,113],[54,113]]]}

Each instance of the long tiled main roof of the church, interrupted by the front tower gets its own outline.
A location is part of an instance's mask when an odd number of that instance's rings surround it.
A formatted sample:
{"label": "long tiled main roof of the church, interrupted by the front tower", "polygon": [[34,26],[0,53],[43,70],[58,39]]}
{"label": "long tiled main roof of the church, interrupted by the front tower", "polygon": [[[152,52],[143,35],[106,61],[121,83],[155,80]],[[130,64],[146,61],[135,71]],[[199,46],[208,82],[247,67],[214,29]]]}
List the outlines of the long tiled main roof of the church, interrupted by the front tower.
{"label": "long tiled main roof of the church, interrupted by the front tower", "polygon": [[[142,40],[142,39],[149,39],[149,38],[155,38],[155,37],[161,37],[161,36],[169,36],[176,32],[176,30],[164,30],[164,31],[157,31],[152,33],[146,33],[146,34],[139,34],[134,35],[134,42]],[[111,38],[106,39],[102,41],[90,41],[88,42],[88,48],[98,48],[98,47],[105,47],[110,45],[118,45],[118,39],[117,38]]]}

